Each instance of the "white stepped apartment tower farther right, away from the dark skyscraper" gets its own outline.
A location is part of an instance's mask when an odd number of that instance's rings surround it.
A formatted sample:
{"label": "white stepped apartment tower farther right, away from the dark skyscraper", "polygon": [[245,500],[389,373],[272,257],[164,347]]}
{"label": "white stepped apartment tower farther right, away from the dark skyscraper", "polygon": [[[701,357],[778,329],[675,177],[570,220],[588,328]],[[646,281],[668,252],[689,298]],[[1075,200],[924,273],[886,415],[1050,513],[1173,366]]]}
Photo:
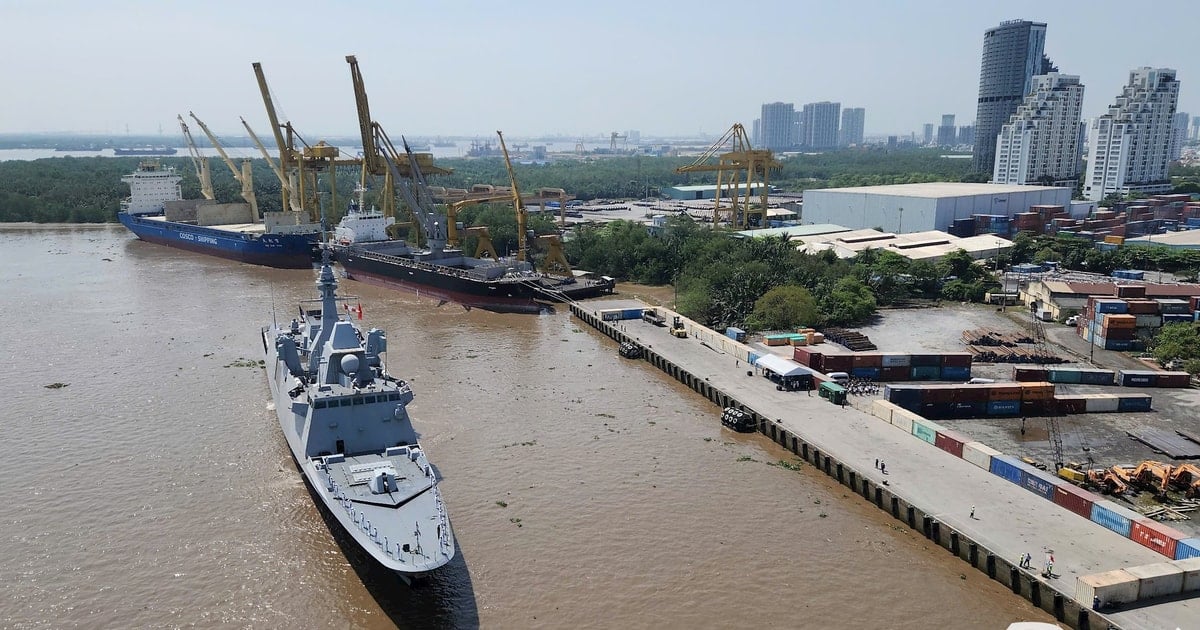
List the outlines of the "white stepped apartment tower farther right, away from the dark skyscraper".
{"label": "white stepped apartment tower farther right, away from the dark skyscraper", "polygon": [[1180,100],[1180,82],[1171,68],[1140,67],[1109,107],[1092,119],[1087,132],[1087,179],[1084,196],[1156,194],[1171,190],[1171,124]]}

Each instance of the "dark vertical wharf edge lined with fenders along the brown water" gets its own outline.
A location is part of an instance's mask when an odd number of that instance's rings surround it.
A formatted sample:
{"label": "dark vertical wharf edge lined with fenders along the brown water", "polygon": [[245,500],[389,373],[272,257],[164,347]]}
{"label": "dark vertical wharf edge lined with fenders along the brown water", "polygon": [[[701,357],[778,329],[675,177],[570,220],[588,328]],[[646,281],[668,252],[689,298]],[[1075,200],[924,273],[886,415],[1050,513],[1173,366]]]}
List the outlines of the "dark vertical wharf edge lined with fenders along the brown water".
{"label": "dark vertical wharf edge lined with fenders along the brown water", "polygon": [[1104,614],[1091,610],[1086,605],[1081,605],[1069,594],[1055,588],[1054,584],[1022,572],[1020,568],[1008,562],[1002,554],[992,552],[983,544],[972,540],[947,523],[928,516],[924,509],[900,497],[890,487],[881,486],[871,479],[865,478],[860,472],[844,464],[835,455],[830,455],[828,449],[817,445],[793,431],[788,431],[776,420],[760,414],[752,407],[730,396],[709,380],[697,378],[688,368],[668,360],[634,336],[626,335],[612,323],[602,320],[596,313],[589,311],[583,305],[575,302],[570,307],[571,313],[576,318],[588,323],[588,325],[617,343],[630,342],[642,347],[643,360],[666,372],[671,378],[683,383],[692,391],[704,396],[713,404],[721,408],[736,407],[749,413],[757,431],[770,438],[772,442],[803,458],[818,470],[824,472],[824,474],[836,479],[839,484],[850,487],[864,500],[887,511],[893,518],[907,524],[913,530],[920,532],[937,546],[949,551],[991,580],[1004,584],[1014,594],[1021,595],[1034,606],[1046,611],[1058,622],[1078,630],[1120,629],[1118,624]]}

